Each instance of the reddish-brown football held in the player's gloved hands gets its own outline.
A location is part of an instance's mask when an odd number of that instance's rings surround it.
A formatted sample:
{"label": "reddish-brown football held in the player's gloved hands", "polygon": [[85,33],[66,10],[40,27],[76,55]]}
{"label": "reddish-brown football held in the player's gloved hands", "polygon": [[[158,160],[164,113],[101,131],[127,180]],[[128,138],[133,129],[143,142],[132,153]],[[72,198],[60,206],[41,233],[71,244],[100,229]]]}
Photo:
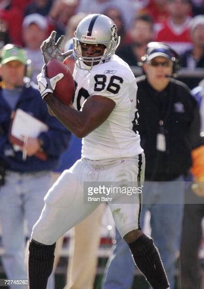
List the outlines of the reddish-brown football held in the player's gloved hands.
{"label": "reddish-brown football held in the player's gloved hands", "polygon": [[54,95],[65,105],[69,105],[74,94],[74,79],[66,64],[59,60],[51,59],[46,65],[46,73],[52,78],[58,73],[63,73],[64,77],[60,79],[55,87]]}

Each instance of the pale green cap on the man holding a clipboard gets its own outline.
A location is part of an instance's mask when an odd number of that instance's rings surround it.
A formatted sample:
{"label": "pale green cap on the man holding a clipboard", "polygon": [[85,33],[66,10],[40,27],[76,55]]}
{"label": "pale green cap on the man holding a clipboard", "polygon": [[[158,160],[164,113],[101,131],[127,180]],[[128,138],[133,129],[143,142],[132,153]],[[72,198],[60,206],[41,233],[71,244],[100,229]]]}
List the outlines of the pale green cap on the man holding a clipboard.
{"label": "pale green cap on the man holding a clipboard", "polygon": [[26,64],[26,52],[13,44],[7,44],[1,50],[1,64],[6,64],[12,60]]}

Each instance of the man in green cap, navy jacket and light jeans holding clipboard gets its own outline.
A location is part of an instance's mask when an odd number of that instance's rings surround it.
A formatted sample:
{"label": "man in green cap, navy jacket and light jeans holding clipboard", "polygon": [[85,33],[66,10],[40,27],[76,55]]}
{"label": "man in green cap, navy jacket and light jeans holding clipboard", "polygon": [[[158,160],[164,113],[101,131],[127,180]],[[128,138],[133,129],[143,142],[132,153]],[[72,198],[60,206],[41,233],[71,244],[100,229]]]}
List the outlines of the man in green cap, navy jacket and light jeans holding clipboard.
{"label": "man in green cap, navy jacket and light jeans holding clipboard", "polygon": [[[24,264],[24,221],[28,235],[44,206],[44,196],[52,184],[51,171],[66,149],[70,132],[52,117],[38,90],[25,83],[26,54],[22,48],[7,44],[1,51],[0,75],[0,222],[4,254],[3,267],[8,279],[27,279]],[[17,108],[31,114],[49,129],[37,138],[28,138],[27,156],[9,141],[12,111]],[[24,124],[27,126],[27,124]],[[34,156],[43,148],[47,160]],[[53,276],[53,275],[52,275]],[[54,280],[53,280],[54,281]],[[50,284],[50,289],[54,284]],[[16,284],[10,287],[16,288]],[[18,285],[18,289],[25,285]]]}

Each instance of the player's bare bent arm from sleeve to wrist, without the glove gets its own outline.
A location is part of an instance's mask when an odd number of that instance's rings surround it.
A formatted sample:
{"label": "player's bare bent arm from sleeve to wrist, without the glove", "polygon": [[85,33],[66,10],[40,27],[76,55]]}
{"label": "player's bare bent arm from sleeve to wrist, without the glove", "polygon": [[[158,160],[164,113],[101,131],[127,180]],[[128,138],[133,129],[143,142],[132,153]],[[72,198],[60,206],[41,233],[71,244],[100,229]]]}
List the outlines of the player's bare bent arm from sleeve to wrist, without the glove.
{"label": "player's bare bent arm from sleeve to wrist, without the glove", "polygon": [[101,95],[91,95],[80,111],[60,102],[52,93],[44,98],[58,120],[77,137],[83,138],[100,126],[115,108],[115,102]]}

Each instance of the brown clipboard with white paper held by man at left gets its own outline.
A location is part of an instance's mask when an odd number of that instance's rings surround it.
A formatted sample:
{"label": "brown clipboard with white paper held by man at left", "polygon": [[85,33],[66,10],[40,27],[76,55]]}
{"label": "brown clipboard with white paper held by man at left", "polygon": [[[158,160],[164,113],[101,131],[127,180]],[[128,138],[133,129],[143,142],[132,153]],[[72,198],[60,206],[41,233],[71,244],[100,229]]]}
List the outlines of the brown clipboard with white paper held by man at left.
{"label": "brown clipboard with white paper held by man at left", "polygon": [[[46,124],[24,110],[17,108],[16,112],[12,115],[9,141],[12,144],[23,146],[25,136],[37,138],[41,132],[48,131],[48,129],[49,127]],[[47,160],[47,155],[41,148],[34,156],[43,161]]]}

